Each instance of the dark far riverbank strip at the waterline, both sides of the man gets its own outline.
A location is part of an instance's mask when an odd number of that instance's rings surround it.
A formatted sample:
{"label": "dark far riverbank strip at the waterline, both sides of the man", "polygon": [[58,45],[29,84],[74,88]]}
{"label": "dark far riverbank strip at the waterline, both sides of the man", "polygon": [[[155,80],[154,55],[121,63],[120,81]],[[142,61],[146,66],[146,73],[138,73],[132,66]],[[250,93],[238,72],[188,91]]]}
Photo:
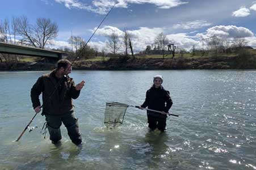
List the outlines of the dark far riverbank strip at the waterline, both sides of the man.
{"label": "dark far riverbank strip at the waterline, both sides of the man", "polygon": [[[51,70],[53,63],[0,63],[0,70]],[[202,58],[131,58],[115,57],[106,61],[77,61],[74,70],[181,70],[181,69],[256,69],[255,56]]]}

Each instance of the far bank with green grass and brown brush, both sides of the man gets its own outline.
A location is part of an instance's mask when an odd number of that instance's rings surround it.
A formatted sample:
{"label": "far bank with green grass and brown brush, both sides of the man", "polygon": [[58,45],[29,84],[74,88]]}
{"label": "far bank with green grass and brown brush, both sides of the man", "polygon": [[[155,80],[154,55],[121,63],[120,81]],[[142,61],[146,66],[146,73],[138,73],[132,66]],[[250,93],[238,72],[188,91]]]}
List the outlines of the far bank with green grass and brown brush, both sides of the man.
{"label": "far bank with green grass and brown brush, both sides of the man", "polygon": [[[72,57],[69,58],[72,60]],[[0,63],[0,70],[51,70],[53,63],[44,63],[38,57],[19,57],[18,61]],[[153,69],[256,69],[256,50],[239,53],[183,53],[175,57],[166,55],[136,55],[81,58],[73,65],[77,70],[153,70]]]}

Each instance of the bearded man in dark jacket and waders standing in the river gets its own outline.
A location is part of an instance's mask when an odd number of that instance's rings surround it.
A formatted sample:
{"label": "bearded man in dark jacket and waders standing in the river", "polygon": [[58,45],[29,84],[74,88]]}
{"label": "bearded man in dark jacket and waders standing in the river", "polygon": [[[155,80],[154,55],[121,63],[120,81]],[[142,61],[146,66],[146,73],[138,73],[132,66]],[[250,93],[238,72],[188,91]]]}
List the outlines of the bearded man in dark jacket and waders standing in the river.
{"label": "bearded man in dark jacket and waders standing in the river", "polygon": [[42,115],[45,115],[53,144],[60,143],[62,122],[68,130],[72,142],[75,145],[82,142],[78,119],[73,113],[72,99],[77,99],[85,82],[82,81],[75,86],[73,79],[68,76],[72,71],[71,64],[68,59],[60,59],[57,62],[57,69],[40,76],[31,88],[31,100],[36,113],[41,111],[39,96],[41,93],[43,94]]}

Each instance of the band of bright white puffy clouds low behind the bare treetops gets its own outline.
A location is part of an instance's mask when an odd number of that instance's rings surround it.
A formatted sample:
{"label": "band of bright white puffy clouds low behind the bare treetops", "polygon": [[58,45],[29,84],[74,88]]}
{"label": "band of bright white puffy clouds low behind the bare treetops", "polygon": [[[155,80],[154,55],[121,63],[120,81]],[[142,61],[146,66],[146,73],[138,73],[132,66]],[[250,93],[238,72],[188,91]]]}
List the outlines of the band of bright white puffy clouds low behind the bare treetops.
{"label": "band of bright white puffy clouds low behind the bare treetops", "polygon": [[[94,28],[95,30],[96,28]],[[93,30],[91,30],[93,31]],[[147,28],[147,27],[140,27],[139,29],[134,30],[127,30],[129,35],[131,35],[133,50],[135,53],[140,52],[141,50],[145,50],[146,45],[154,44],[155,37],[161,33],[165,32],[164,28]],[[110,52],[108,49],[107,44],[107,37],[110,36],[112,33],[116,33],[120,41],[123,41],[124,31],[121,31],[119,28],[112,27],[110,25],[106,25],[103,28],[98,29],[96,35],[102,36],[100,40],[94,39],[93,41],[89,42],[89,45],[92,48],[97,49],[98,51],[105,50],[106,52]],[[205,39],[214,35],[217,35],[220,38],[226,40],[232,40],[234,37],[243,37],[249,43],[248,45],[256,47],[256,37],[254,33],[245,27],[237,27],[235,25],[217,25],[215,27],[208,28],[205,33],[197,33],[196,36],[189,36],[190,32],[188,33],[175,33],[175,34],[168,34],[166,37],[170,40],[170,42],[174,43],[178,48],[184,48],[186,50],[190,50],[193,45],[196,48],[202,48],[203,45],[207,41],[200,41],[200,39]],[[69,48],[71,46],[66,41],[52,41],[51,48]],[[124,52],[123,46],[121,46],[119,52]]]}

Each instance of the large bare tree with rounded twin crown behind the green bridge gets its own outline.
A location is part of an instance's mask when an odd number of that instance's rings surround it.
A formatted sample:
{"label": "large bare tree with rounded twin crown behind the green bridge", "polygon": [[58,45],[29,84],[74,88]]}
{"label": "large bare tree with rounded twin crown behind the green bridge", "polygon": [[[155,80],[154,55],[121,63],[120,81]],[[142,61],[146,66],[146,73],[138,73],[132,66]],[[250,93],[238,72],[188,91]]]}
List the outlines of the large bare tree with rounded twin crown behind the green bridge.
{"label": "large bare tree with rounded twin crown behind the green bridge", "polygon": [[16,18],[16,33],[20,41],[37,48],[45,48],[50,40],[57,37],[58,26],[51,19],[37,18],[35,25],[30,25],[26,16]]}

